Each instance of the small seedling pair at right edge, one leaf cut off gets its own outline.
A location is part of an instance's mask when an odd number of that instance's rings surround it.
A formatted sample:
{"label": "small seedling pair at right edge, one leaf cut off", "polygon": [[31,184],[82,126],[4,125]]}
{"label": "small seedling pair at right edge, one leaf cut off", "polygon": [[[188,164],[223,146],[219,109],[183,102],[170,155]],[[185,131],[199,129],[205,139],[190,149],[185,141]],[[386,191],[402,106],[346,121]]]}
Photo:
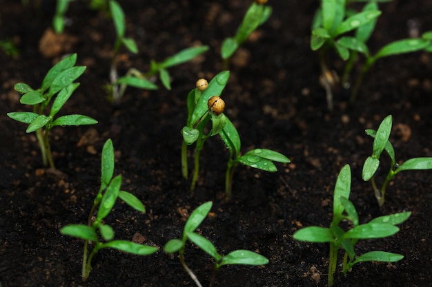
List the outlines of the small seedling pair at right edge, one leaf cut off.
{"label": "small seedling pair at right edge, one leaf cut off", "polygon": [[[374,140],[372,155],[366,158],[363,165],[362,178],[365,181],[371,180],[375,198],[377,198],[377,202],[380,206],[384,204],[384,195],[387,184],[389,184],[397,173],[400,171],[432,169],[432,158],[411,158],[402,164],[396,162],[395,150],[389,141],[391,126],[392,117],[389,115],[382,120],[377,131],[366,129],[366,134],[374,138]],[[391,166],[382,187],[379,189],[375,183],[375,173],[377,172],[378,167],[380,167],[380,156],[384,150],[391,159]]]}

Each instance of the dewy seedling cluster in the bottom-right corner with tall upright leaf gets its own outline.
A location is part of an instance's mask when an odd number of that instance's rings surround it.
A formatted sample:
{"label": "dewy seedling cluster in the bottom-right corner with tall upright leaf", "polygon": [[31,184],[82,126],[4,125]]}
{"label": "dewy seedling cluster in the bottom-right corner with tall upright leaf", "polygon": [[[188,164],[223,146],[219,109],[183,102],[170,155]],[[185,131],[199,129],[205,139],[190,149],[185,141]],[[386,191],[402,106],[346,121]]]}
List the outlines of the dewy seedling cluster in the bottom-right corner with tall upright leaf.
{"label": "dewy seedling cluster in the bottom-right corner with tall upright leaf", "polygon": [[[357,256],[355,244],[358,240],[371,240],[394,235],[399,231],[397,224],[401,224],[411,215],[410,212],[395,213],[376,217],[366,224],[359,224],[357,211],[353,202],[348,200],[351,192],[351,169],[348,164],[340,171],[337,177],[333,194],[333,220],[330,228],[321,226],[308,226],[296,231],[295,240],[329,243],[330,255],[328,260],[328,286],[333,285],[333,275],[337,266],[337,251],[340,247],[344,250],[342,272],[344,275],[355,264],[360,262],[397,262],[404,256],[384,251],[371,251]],[[344,231],[340,222],[348,221],[353,226]]]}

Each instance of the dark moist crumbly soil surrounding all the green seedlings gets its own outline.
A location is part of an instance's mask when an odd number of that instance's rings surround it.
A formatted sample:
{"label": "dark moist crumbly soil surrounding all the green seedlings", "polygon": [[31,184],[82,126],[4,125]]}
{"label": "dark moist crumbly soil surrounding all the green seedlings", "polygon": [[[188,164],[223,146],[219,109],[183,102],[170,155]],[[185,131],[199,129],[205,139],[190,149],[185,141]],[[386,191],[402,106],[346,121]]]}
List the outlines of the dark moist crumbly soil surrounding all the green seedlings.
{"label": "dark moist crumbly soil surrounding all the green seedlings", "polygon": [[[431,286],[432,173],[398,174],[382,208],[361,173],[372,150],[364,129],[377,129],[388,114],[393,115],[391,141],[400,162],[432,156],[432,55],[417,52],[378,61],[356,103],[348,105],[348,91],[339,89],[330,112],[318,81],[318,55],[309,47],[318,1],[270,1],[271,18],[233,57],[222,94],[243,153],[273,149],[288,156],[291,164],[277,164],[276,173],[237,167],[233,199],[226,202],[228,151],[218,137],[210,138],[201,154],[197,188],[190,192],[180,165],[186,96],[197,78],[210,79],[222,70],[219,47],[235,34],[246,2],[121,1],[126,34],[137,41],[139,54],[121,51],[120,74],[130,67],[146,71],[150,59],[162,61],[186,47],[210,48],[194,61],[170,68],[172,90],[156,81],[159,90],[128,88],[121,103],[112,105],[104,85],[115,31],[106,14],[88,9],[86,1],[72,2],[69,24],[53,46],[49,29],[55,1],[27,6],[0,1],[0,39],[11,39],[19,49],[17,56],[0,54],[1,286],[195,286],[177,255],[166,255],[162,247],[181,236],[188,215],[208,200],[213,208],[199,232],[219,253],[248,249],[270,261],[265,266],[224,266],[215,286],[326,286],[328,245],[297,242],[292,235],[302,226],[331,222],[334,184],[344,164],[352,169],[351,200],[361,223],[401,211],[412,215],[396,235],[362,241],[356,249],[358,254],[400,253],[404,259],[357,264],[346,277],[338,266],[335,286]],[[431,1],[394,0],[380,7],[383,13],[369,41],[372,51],[432,29]],[[57,167],[52,171],[42,166],[35,134],[26,134],[25,125],[6,113],[30,111],[19,103],[15,83],[39,87],[59,57],[71,52],[87,70],[61,113],[85,114],[99,123],[52,129]],[[334,55],[329,60],[341,74],[343,62]],[[114,143],[115,174],[123,176],[122,189],[137,195],[146,213],[119,202],[106,224],[115,229],[116,239],[159,246],[159,251],[139,257],[104,249],[83,282],[83,241],[62,236],[59,228],[86,222],[99,189],[101,148],[108,138]],[[190,160],[192,155],[190,149]],[[384,159],[378,182],[388,164]],[[186,262],[208,286],[212,259],[190,244]]]}

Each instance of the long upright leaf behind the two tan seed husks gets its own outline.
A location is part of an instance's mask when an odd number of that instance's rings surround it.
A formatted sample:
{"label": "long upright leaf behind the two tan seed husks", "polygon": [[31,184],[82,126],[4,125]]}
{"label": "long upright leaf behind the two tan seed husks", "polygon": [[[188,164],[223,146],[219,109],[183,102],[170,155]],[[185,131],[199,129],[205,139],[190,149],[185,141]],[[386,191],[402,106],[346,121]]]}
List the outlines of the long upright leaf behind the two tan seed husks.
{"label": "long upright leaf behind the two tan seed husks", "polygon": [[229,71],[223,71],[217,74],[211,81],[208,83],[207,89],[204,90],[202,95],[198,99],[197,106],[195,107],[192,116],[190,117],[190,122],[188,123],[188,127],[193,127],[195,123],[202,117],[202,115],[208,110],[207,102],[208,99],[212,96],[220,96],[226,83],[228,82],[228,78],[230,77]]}

